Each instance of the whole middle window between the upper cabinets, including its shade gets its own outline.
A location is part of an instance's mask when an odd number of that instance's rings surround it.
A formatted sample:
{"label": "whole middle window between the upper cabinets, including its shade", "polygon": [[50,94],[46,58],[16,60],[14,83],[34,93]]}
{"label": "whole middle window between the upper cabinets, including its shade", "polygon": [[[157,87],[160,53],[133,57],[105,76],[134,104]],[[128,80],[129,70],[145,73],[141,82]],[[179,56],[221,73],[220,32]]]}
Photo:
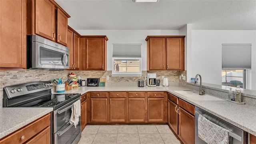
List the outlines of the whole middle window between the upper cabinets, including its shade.
{"label": "whole middle window between the upper cabinets, including its shade", "polygon": [[141,44],[112,44],[112,76],[141,76]]}

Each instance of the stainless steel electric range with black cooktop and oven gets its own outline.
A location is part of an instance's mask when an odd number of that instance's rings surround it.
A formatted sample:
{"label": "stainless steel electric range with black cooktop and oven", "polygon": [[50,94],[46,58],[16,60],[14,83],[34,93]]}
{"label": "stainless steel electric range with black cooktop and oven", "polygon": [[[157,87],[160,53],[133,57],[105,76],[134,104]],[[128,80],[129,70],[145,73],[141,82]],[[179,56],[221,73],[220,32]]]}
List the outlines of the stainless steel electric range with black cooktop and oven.
{"label": "stainless steel electric range with black cooktop and oven", "polygon": [[52,144],[77,144],[81,138],[78,125],[70,124],[71,108],[81,94],[52,94],[50,82],[30,82],[4,88],[3,107],[52,107]]}

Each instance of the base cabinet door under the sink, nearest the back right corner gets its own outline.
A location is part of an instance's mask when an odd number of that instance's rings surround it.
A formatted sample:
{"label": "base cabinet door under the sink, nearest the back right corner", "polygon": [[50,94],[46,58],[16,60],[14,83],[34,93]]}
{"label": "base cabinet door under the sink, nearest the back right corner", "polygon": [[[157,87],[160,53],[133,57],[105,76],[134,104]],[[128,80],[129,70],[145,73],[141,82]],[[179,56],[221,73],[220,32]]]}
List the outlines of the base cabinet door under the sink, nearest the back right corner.
{"label": "base cabinet door under the sink, nearest the back right corner", "polygon": [[178,135],[178,105],[168,100],[168,124],[172,130]]}

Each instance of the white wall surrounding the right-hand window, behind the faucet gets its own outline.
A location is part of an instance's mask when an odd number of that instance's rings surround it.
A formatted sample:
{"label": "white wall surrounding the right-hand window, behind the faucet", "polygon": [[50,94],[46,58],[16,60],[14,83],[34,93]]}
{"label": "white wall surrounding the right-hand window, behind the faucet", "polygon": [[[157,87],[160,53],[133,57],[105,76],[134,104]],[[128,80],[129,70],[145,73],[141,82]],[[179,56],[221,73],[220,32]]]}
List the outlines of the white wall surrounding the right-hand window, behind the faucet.
{"label": "white wall surrounding the right-hand window, behind the faucet", "polygon": [[256,90],[256,30],[191,31],[191,57],[187,56],[188,81],[196,74],[201,74],[202,82],[221,85],[222,44],[252,44],[252,70],[248,74],[248,89]]}

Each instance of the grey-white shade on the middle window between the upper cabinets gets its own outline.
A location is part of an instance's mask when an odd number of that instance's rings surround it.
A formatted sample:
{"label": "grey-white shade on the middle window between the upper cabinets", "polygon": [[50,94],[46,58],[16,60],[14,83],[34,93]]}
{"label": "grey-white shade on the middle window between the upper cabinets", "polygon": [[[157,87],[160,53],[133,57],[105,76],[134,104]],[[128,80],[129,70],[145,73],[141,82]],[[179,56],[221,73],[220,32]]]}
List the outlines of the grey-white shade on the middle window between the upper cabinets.
{"label": "grey-white shade on the middle window between the upper cabinets", "polygon": [[141,44],[112,44],[112,57],[141,58]]}

